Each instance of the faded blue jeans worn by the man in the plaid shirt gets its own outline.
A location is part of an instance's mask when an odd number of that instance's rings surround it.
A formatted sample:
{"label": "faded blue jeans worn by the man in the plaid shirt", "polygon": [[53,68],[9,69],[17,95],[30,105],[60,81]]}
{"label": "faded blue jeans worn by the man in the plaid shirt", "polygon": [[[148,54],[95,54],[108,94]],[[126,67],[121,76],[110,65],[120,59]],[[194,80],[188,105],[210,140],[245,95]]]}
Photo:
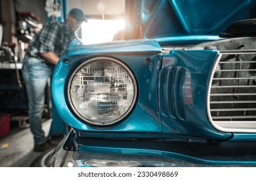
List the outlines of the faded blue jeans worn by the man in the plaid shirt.
{"label": "faded blue jeans worn by the man in the plaid shirt", "polygon": [[26,57],[23,60],[23,77],[28,95],[28,118],[35,145],[41,145],[48,138],[42,130],[42,111],[44,110],[45,87],[53,73],[54,66],[42,60]]}

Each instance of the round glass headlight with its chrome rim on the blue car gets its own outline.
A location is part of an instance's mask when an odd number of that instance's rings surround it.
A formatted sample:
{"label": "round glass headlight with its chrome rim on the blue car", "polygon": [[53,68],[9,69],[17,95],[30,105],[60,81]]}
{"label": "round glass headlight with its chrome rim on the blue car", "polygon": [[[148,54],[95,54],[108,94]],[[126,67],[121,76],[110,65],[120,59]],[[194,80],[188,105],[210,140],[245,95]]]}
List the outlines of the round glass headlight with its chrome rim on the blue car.
{"label": "round glass headlight with its chrome rim on the blue car", "polygon": [[75,69],[68,98],[75,114],[94,125],[122,120],[133,109],[136,80],[130,69],[114,58],[92,58]]}

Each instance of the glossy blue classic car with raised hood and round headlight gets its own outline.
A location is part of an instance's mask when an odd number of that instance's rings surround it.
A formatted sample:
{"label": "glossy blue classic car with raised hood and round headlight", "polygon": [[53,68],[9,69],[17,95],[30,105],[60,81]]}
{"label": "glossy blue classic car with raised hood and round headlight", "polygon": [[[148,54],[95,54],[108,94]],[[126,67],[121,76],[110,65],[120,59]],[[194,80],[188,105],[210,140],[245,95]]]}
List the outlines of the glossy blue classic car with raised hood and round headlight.
{"label": "glossy blue classic car with raised hood and round headlight", "polygon": [[255,166],[256,1],[131,2],[125,40],[74,39],[55,67],[71,131],[48,166]]}

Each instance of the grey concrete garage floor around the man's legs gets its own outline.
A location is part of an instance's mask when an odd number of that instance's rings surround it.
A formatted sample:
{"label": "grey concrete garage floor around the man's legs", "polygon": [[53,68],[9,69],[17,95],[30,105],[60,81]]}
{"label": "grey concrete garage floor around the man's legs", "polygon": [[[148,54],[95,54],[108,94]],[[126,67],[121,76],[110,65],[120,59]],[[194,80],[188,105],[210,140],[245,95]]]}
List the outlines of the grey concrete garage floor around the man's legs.
{"label": "grey concrete garage floor around the man's legs", "polygon": [[[46,135],[50,130],[52,120],[42,123]],[[10,134],[0,138],[0,145],[8,143],[8,148],[0,149],[0,167],[30,167],[41,152],[33,152],[33,136],[30,128],[12,127]]]}

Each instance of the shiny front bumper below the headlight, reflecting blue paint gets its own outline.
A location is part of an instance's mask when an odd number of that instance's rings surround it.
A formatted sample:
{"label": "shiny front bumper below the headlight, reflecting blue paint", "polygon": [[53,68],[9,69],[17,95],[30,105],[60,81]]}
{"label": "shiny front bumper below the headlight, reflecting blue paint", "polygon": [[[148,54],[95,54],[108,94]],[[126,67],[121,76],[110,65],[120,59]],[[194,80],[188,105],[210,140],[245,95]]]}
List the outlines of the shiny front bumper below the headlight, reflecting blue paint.
{"label": "shiny front bumper below the headlight, reflecting blue paint", "polygon": [[81,140],[71,131],[48,167],[255,167],[254,152],[253,142]]}

